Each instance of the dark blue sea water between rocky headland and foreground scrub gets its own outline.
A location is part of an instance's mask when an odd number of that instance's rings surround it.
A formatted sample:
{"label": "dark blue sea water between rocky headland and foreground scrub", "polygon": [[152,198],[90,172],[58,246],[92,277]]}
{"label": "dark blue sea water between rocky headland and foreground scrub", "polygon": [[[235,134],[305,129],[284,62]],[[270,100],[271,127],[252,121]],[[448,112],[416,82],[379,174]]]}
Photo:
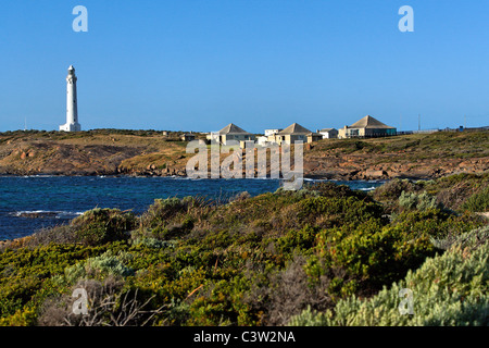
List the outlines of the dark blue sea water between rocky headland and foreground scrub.
{"label": "dark blue sea water between rocky headland and foreground scrub", "polygon": [[[313,181],[311,181],[313,182]],[[381,182],[335,182],[371,190]],[[201,196],[227,201],[248,191],[275,191],[278,179],[190,179],[131,176],[0,176],[0,240],[32,235],[93,208],[118,208],[142,213],[154,199]]]}

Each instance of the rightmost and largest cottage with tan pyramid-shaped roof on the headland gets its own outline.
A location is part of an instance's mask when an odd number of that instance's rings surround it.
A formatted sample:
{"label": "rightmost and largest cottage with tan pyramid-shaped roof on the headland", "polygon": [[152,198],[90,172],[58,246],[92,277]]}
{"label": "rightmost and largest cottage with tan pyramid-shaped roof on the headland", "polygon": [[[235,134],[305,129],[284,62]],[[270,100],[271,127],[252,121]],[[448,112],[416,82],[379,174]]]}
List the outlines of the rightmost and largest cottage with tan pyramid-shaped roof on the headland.
{"label": "rightmost and largest cottage with tan pyramid-shaped roof on the headland", "polygon": [[350,126],[338,130],[338,138],[375,138],[397,135],[397,128],[381,123],[377,119],[366,115]]}

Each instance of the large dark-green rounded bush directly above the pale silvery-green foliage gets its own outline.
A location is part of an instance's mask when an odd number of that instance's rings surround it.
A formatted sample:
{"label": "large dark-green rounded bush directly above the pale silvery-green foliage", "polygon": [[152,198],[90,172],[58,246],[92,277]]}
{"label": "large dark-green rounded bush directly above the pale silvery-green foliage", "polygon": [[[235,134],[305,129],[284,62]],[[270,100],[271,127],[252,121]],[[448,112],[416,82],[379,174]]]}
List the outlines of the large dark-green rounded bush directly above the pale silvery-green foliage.
{"label": "large dark-green rounded bush directly above the pale silvery-green foliage", "polygon": [[354,294],[360,284],[365,293],[379,289],[434,254],[428,236],[415,237],[401,228],[383,227],[375,220],[356,229],[325,229],[316,240],[316,257],[310,259],[308,273],[314,281],[318,274],[344,270],[344,279],[333,282],[329,288],[331,295],[340,297]]}

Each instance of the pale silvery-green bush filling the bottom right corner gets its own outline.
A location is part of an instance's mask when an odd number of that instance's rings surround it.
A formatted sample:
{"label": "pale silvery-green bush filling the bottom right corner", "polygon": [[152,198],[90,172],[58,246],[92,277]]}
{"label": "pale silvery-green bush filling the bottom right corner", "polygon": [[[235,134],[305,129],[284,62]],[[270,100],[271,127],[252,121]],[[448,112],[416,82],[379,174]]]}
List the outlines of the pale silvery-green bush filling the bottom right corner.
{"label": "pale silvery-green bush filling the bottom right corner", "polygon": [[[368,300],[340,300],[334,311],[311,310],[292,318],[290,325],[327,326],[466,326],[489,325],[489,244],[468,251],[455,245],[427,259],[405,278]],[[413,293],[414,314],[399,311],[400,290]]]}

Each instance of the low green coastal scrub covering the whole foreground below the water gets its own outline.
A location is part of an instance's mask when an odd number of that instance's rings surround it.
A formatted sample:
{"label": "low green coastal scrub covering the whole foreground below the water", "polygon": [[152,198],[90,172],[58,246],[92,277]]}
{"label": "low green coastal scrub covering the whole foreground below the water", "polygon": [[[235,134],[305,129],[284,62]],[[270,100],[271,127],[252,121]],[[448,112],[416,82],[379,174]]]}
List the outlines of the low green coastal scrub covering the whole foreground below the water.
{"label": "low green coastal scrub covering the whole foreground below the water", "polygon": [[[321,182],[87,211],[2,245],[0,324],[487,325],[488,183]],[[414,314],[398,310],[403,288]]]}

